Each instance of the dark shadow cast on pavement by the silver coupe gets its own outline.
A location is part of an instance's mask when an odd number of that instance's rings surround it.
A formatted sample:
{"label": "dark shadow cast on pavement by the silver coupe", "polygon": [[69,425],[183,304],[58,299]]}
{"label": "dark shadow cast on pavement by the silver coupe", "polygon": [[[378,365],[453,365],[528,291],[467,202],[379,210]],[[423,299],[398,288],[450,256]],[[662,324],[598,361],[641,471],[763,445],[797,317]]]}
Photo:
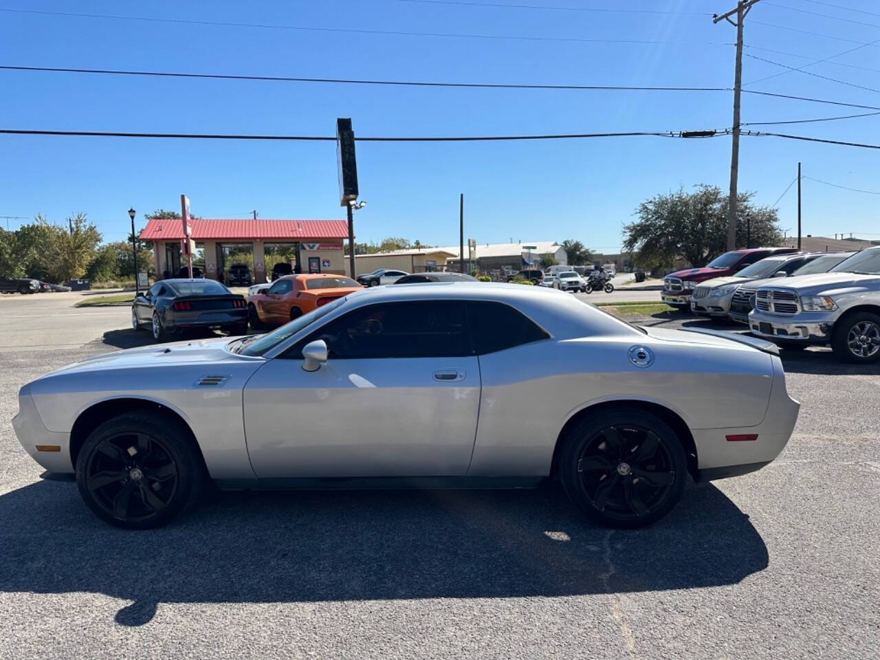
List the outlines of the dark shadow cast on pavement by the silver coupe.
{"label": "dark shadow cast on pavement by the silver coupe", "polygon": [[639,531],[591,526],[558,488],[227,493],[169,527],[101,523],[74,483],[0,496],[0,591],[158,603],[509,598],[711,587],[766,568],[749,517],[711,484]]}

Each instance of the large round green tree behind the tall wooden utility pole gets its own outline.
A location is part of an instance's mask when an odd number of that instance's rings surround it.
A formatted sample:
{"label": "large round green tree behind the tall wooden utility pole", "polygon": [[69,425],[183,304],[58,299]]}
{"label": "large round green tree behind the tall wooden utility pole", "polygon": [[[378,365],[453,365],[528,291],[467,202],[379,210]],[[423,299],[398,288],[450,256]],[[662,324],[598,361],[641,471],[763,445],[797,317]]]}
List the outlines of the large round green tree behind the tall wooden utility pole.
{"label": "large round green tree behind the tall wooden utility pole", "polygon": [[[745,247],[751,225],[752,246],[781,242],[776,209],[755,206],[753,192],[737,195],[737,247]],[[658,194],[636,209],[637,220],[624,226],[623,249],[641,268],[664,268],[678,258],[703,266],[727,246],[728,197],[719,187],[700,184]]]}

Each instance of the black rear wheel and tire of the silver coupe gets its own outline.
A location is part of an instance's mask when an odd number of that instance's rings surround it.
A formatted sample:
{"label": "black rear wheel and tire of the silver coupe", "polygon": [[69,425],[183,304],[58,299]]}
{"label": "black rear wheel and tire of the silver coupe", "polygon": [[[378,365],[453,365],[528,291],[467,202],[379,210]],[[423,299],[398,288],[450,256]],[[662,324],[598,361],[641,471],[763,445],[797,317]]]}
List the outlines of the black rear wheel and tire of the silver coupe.
{"label": "black rear wheel and tire of the silver coupe", "polygon": [[625,529],[652,524],[685,488],[685,450],[653,414],[627,408],[593,414],[561,442],[562,487],[595,523]]}

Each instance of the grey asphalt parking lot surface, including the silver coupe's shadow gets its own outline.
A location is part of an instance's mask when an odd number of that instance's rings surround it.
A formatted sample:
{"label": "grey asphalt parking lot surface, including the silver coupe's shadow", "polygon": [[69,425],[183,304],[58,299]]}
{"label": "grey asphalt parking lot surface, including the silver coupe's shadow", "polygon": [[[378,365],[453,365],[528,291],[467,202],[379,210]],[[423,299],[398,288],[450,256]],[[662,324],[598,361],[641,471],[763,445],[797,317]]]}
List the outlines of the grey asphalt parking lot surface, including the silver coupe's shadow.
{"label": "grey asphalt parking lot surface, including the silver coupe's shadow", "polygon": [[128,307],[77,296],[0,300],[0,657],[880,653],[880,365],[784,355],[802,408],[780,458],[691,485],[641,531],[548,487],[225,494],[123,532],[11,429],[20,385],[148,341]]}

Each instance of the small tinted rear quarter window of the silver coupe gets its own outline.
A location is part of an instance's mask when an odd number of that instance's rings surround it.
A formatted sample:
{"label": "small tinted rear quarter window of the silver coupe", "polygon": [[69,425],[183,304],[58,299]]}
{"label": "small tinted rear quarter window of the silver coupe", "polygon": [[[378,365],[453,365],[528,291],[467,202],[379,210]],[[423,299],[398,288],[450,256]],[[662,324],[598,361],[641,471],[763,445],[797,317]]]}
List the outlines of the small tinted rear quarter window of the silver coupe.
{"label": "small tinted rear quarter window of the silver coupe", "polygon": [[469,301],[466,306],[477,355],[550,338],[532,319],[509,304]]}

